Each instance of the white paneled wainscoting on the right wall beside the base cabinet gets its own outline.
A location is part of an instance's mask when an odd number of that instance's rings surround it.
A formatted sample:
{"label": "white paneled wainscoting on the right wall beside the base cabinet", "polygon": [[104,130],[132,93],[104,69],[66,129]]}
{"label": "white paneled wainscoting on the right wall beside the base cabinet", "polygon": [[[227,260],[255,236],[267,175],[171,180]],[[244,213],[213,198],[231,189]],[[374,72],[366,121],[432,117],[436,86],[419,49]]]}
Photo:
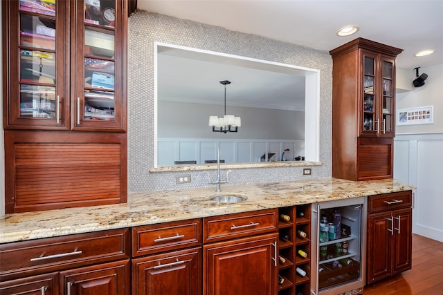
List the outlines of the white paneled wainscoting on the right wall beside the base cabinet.
{"label": "white paneled wainscoting on the right wall beside the base cabinet", "polygon": [[396,135],[394,177],[417,187],[413,232],[443,242],[443,133]]}

